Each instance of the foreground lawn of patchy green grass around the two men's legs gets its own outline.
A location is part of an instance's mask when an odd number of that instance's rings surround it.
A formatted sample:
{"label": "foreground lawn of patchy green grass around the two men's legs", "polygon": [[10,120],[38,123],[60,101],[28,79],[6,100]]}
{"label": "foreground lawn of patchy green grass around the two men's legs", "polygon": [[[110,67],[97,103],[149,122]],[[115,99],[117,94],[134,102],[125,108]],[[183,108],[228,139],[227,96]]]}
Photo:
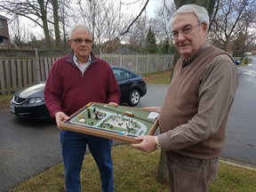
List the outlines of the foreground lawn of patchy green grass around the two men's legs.
{"label": "foreground lawn of patchy green grass around the two men's legs", "polygon": [[[112,156],[116,192],[169,191],[167,184],[156,180],[160,150],[148,154],[125,144],[113,147]],[[210,186],[209,192],[255,192],[255,180],[255,171],[220,163],[218,177]],[[99,171],[90,154],[85,156],[81,185],[86,192],[100,191]],[[61,163],[20,183],[11,191],[57,192],[64,191],[64,188],[64,170]]]}

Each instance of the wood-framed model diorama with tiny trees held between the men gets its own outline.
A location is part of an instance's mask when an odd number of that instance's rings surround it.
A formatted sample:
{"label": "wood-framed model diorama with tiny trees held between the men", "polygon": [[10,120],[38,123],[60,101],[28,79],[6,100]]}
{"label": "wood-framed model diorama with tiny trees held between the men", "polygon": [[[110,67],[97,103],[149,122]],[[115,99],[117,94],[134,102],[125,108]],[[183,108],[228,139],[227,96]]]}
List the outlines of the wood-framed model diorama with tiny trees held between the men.
{"label": "wood-framed model diorama with tiny trees held between the men", "polygon": [[60,124],[60,128],[133,142],[134,137],[151,135],[156,131],[157,117],[158,113],[140,108],[89,103],[64,124]]}

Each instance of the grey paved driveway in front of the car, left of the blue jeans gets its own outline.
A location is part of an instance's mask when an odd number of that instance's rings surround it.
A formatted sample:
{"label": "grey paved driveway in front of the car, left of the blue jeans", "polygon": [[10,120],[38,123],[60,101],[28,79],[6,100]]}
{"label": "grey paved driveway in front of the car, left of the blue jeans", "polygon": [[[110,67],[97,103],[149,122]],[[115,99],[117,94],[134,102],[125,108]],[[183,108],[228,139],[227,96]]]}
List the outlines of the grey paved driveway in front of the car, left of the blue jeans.
{"label": "grey paved driveway in front of the car, left of the blue jeans", "polygon": [[0,114],[0,191],[13,188],[61,162],[55,124]]}

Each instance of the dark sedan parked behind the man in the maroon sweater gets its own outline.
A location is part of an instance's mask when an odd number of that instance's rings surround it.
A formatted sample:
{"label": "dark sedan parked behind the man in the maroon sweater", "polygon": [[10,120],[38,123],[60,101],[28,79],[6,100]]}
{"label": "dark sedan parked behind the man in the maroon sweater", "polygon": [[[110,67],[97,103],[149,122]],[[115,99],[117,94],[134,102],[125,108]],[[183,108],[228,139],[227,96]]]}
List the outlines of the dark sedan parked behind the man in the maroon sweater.
{"label": "dark sedan parked behind the man in the maroon sweater", "polygon": [[[138,105],[140,98],[147,93],[147,84],[142,76],[126,68],[111,67],[121,91],[121,104],[133,107]],[[11,112],[20,117],[50,119],[44,104],[45,81],[31,84],[14,93],[10,103]]]}

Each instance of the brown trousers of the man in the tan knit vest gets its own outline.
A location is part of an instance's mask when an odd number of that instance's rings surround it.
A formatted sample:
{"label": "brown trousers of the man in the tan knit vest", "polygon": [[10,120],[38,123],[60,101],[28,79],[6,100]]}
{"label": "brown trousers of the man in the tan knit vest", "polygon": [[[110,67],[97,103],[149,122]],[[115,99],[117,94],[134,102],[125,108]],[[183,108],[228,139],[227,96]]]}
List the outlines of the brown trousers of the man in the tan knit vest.
{"label": "brown trousers of the man in the tan knit vest", "polygon": [[197,159],[166,152],[172,192],[206,192],[215,179],[219,156],[212,159]]}

